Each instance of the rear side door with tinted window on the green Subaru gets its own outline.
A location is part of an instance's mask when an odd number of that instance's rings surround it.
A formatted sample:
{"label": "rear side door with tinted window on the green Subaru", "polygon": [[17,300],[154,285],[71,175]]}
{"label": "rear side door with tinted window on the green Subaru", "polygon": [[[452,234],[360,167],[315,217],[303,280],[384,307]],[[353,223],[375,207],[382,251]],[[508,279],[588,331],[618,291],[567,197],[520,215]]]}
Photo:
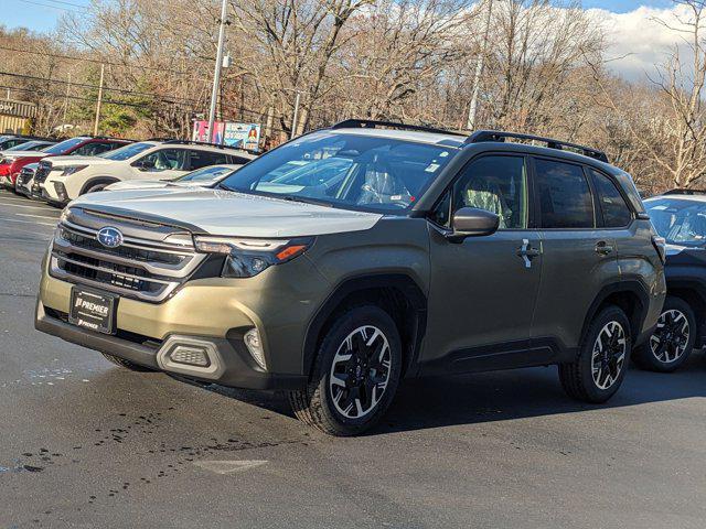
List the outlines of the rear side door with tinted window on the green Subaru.
{"label": "rear side door with tinted window on the green Subaru", "polygon": [[533,161],[543,245],[533,344],[570,356],[596,296],[619,277],[616,238],[602,226],[592,179],[581,164]]}

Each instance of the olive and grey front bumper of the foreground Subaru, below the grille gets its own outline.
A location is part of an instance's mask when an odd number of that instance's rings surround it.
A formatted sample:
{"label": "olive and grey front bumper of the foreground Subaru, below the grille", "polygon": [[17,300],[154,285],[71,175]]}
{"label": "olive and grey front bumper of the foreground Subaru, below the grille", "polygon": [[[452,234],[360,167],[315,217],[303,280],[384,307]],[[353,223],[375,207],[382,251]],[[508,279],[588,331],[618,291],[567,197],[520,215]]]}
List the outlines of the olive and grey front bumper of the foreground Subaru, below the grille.
{"label": "olive and grey front bumper of the foreground Subaru, below the grille", "polygon": [[[300,389],[308,380],[303,342],[308,323],[323,300],[322,277],[302,256],[247,280],[199,279],[171,298],[150,303],[120,298],[116,335],[72,325],[67,321],[73,283],[50,276],[47,263],[38,300],[35,327],[67,342],[189,378],[247,389]],[[293,280],[292,278],[297,278]],[[268,295],[264,295],[269,292]],[[267,369],[248,352],[243,336],[256,327]],[[174,343],[207,349],[207,368],[170,361]]]}

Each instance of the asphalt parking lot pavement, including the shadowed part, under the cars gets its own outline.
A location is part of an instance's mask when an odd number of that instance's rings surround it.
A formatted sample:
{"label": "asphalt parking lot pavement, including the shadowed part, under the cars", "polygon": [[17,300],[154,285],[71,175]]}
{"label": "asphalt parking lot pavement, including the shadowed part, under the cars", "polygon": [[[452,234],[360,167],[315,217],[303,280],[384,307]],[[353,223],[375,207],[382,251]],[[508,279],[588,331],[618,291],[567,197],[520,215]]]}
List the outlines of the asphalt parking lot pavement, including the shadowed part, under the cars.
{"label": "asphalt parking lot pavement, including the shadowed part, under the cars", "polygon": [[0,192],[0,528],[703,528],[706,358],[608,406],[554,368],[407,382],[331,439],[279,395],[120,370],[33,330],[58,210]]}

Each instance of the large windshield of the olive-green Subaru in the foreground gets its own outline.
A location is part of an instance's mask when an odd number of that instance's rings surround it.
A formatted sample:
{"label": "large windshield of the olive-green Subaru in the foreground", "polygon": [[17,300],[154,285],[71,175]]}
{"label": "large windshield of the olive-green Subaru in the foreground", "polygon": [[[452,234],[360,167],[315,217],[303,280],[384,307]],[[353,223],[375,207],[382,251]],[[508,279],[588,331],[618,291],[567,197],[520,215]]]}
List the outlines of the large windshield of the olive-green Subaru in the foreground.
{"label": "large windshield of the olive-green Subaru in the foreground", "polygon": [[452,147],[321,131],[254,160],[221,186],[395,213],[409,208],[457,152]]}

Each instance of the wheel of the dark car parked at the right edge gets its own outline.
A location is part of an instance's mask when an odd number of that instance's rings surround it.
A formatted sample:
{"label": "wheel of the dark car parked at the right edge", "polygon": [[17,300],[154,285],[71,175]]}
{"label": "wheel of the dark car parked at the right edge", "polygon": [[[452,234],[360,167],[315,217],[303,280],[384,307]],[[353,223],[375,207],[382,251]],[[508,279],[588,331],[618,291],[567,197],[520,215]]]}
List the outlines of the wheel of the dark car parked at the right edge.
{"label": "wheel of the dark car parked at the right edge", "polygon": [[688,359],[696,341],[696,316],[683,299],[667,295],[650,339],[635,347],[633,359],[641,369],[673,373]]}

